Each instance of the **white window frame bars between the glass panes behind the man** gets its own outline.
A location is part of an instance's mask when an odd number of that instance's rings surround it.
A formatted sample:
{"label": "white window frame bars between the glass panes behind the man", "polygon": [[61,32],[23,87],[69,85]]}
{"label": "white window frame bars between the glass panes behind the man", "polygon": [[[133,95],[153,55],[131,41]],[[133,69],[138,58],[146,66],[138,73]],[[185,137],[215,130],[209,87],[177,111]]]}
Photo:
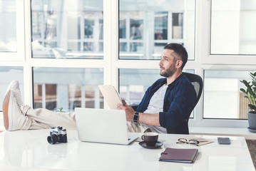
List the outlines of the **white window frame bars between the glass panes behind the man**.
{"label": "white window frame bars between the glass panes behind the man", "polygon": [[[159,69],[156,60],[123,60],[119,57],[119,6],[118,0],[103,0],[103,59],[31,58],[31,2],[16,1],[17,43],[16,53],[0,53],[0,66],[24,67],[24,102],[33,105],[33,67],[103,68],[104,84],[118,89],[118,70],[121,68]],[[188,61],[185,69],[195,71],[204,78],[204,70],[230,69],[254,70],[255,56],[210,54],[210,5],[211,1],[195,0],[195,59]],[[21,45],[21,46],[20,46]],[[56,62],[58,61],[58,62]],[[86,61],[86,63],[85,63]],[[203,95],[190,118],[190,126],[247,127],[247,120],[203,119]],[[105,105],[106,106],[106,105]]]}

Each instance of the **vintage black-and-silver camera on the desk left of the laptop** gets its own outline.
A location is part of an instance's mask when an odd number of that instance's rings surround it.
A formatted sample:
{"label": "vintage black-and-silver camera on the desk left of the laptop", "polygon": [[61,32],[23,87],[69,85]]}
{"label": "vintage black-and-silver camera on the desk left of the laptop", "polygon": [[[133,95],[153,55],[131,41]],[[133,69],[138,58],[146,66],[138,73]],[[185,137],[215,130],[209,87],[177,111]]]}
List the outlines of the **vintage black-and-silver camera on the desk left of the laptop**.
{"label": "vintage black-and-silver camera on the desk left of the laptop", "polygon": [[47,137],[47,140],[50,144],[55,144],[56,142],[68,142],[66,129],[61,126],[51,127],[50,136]]}

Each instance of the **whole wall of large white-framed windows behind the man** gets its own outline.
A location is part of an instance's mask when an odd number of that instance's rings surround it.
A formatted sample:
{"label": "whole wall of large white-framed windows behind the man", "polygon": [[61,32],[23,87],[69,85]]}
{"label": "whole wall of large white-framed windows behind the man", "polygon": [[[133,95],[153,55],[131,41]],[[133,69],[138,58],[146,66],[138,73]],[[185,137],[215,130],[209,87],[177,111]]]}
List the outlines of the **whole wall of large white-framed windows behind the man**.
{"label": "whole wall of large white-framed windows behind the man", "polygon": [[24,102],[34,108],[108,108],[98,90],[105,84],[138,104],[160,78],[163,46],[180,43],[188,51],[184,71],[204,81],[189,124],[247,128],[240,80],[250,81],[256,68],[255,4],[0,0],[0,95],[18,80]]}

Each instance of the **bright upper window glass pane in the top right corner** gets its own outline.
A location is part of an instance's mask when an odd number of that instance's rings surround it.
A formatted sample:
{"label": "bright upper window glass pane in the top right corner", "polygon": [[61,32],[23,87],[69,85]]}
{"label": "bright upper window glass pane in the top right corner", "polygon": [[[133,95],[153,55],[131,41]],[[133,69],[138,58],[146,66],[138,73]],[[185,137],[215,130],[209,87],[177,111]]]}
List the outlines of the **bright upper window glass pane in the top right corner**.
{"label": "bright upper window glass pane in the top right corner", "polygon": [[211,17],[211,54],[256,54],[255,0],[212,1]]}

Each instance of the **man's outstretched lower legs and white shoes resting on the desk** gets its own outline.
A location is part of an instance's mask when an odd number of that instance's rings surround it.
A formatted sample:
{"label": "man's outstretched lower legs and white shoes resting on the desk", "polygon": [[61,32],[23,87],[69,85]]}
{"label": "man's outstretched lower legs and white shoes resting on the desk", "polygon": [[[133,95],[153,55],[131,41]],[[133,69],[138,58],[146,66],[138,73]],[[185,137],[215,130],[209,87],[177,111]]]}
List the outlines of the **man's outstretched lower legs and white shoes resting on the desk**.
{"label": "man's outstretched lower legs and white shoes resting on the desk", "polygon": [[47,109],[37,109],[23,105],[19,82],[10,83],[3,103],[4,127],[6,130],[43,129],[51,126],[76,128],[74,113],[54,113]]}

